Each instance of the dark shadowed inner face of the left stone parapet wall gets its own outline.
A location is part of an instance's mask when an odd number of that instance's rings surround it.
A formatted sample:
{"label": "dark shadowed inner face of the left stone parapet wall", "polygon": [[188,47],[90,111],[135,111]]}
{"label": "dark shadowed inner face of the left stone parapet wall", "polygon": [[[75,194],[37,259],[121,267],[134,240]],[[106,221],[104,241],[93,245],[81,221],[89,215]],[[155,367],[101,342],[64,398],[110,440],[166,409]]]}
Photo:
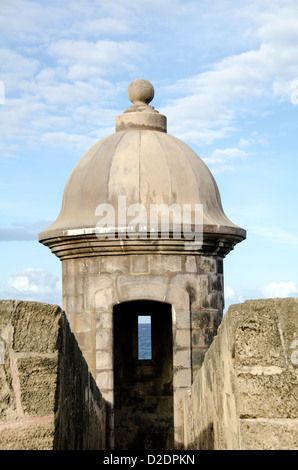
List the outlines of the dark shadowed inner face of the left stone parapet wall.
{"label": "dark shadowed inner face of the left stone parapet wall", "polygon": [[61,315],[60,324],[53,448],[105,449],[110,404],[103,399],[89,372],[65,314]]}

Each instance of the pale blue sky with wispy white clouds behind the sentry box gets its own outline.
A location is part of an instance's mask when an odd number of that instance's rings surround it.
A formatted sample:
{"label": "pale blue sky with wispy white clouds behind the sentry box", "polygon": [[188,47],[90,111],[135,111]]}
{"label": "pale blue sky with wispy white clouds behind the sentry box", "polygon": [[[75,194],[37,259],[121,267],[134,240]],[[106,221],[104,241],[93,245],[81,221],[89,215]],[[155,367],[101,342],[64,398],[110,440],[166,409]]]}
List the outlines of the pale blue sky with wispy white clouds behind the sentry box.
{"label": "pale blue sky with wispy white clouds behind the sentry box", "polygon": [[37,234],[136,78],[247,230],[224,262],[226,306],[298,296],[296,0],[1,0],[0,30],[1,298],[61,304]]}

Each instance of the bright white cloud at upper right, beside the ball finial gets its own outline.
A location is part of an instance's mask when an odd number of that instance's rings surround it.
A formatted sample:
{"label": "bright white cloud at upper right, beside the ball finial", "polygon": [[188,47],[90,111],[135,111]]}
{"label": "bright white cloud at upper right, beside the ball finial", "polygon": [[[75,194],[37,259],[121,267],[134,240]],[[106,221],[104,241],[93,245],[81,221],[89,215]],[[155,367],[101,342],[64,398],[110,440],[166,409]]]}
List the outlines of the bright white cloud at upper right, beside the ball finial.
{"label": "bright white cloud at upper right, beside the ball finial", "polygon": [[298,78],[297,10],[297,4],[283,8],[275,2],[263,12],[254,4],[248,15],[259,46],[223,57],[203,73],[173,84],[170,91],[184,97],[163,109],[172,133],[190,142],[212,143],[233,131],[251,100],[257,104],[257,99],[286,96],[290,103],[291,81]]}

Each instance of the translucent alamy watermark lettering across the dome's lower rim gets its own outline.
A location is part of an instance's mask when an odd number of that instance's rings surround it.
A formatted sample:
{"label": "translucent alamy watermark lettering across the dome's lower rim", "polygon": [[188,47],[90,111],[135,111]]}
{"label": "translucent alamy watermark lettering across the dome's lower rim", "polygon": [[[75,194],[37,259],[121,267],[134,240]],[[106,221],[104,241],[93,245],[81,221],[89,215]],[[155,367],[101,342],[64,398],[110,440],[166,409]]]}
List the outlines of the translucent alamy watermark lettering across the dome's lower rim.
{"label": "translucent alamy watermark lettering across the dome's lower rim", "polygon": [[103,239],[183,240],[185,249],[198,249],[203,243],[203,204],[127,205],[126,196],[118,196],[116,207],[99,204],[95,234]]}

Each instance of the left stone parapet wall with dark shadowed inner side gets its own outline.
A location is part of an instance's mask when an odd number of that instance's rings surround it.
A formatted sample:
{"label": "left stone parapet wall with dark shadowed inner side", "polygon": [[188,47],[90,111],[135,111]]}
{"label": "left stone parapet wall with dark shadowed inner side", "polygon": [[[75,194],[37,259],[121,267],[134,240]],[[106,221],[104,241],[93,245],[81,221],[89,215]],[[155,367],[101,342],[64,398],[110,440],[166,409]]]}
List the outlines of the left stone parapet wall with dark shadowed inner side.
{"label": "left stone parapet wall with dark shadowed inner side", "polygon": [[105,416],[64,312],[0,301],[0,449],[104,449]]}

